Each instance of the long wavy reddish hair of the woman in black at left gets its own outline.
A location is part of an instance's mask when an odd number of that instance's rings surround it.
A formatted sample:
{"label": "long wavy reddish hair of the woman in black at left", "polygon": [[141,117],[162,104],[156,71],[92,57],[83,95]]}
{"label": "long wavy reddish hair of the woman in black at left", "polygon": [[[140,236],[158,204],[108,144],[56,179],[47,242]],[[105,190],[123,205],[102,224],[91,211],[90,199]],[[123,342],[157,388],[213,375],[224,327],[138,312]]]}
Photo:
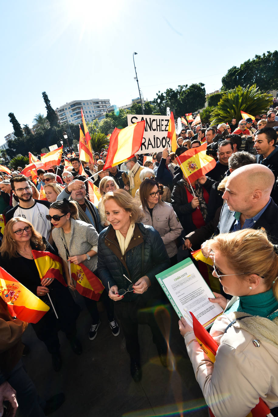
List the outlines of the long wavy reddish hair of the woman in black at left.
{"label": "long wavy reddish hair of the woman in black at left", "polygon": [[8,221],[8,223],[5,226],[4,232],[3,232],[3,240],[2,245],[0,247],[0,254],[3,256],[8,256],[8,258],[18,258],[20,255],[17,252],[17,244],[14,237],[14,231],[13,231],[13,225],[15,223],[18,223],[19,221],[22,221],[23,223],[28,224],[28,226],[31,226],[31,237],[30,242],[32,242],[36,248],[39,251],[45,251],[45,244],[43,243],[43,238],[40,233],[38,233],[34,227],[33,224],[27,220],[23,219],[22,217],[13,217]]}

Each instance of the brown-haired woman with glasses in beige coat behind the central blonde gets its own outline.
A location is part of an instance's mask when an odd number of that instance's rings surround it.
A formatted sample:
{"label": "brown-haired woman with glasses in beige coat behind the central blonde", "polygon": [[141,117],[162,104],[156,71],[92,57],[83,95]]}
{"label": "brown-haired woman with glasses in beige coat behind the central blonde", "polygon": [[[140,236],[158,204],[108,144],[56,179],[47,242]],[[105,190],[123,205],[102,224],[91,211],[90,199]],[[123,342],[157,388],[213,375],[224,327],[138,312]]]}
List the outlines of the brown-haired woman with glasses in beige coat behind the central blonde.
{"label": "brown-haired woman with glasses in beige coat behind the central blonde", "polygon": [[140,184],[139,196],[144,212],[142,223],[153,226],[159,232],[173,266],[177,263],[175,240],[183,229],[173,207],[159,198],[162,192],[154,180],[146,180]]}

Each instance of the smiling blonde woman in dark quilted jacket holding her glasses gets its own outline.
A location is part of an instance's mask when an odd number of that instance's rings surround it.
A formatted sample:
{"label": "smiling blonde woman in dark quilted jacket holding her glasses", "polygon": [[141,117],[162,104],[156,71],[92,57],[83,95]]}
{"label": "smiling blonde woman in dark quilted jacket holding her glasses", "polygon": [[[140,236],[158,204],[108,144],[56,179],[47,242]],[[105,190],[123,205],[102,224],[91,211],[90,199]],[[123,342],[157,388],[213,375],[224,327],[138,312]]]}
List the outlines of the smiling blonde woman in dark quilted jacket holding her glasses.
{"label": "smiling blonde woman in dark quilted jacket holding her glasses", "polygon": [[155,275],[167,269],[170,261],[159,233],[140,223],[143,213],[136,199],[120,189],[106,193],[103,203],[111,225],[99,235],[99,277],[115,301],[130,355],[131,376],[139,382],[139,323],[150,326],[159,358],[167,366],[167,344],[153,311],[161,295]]}

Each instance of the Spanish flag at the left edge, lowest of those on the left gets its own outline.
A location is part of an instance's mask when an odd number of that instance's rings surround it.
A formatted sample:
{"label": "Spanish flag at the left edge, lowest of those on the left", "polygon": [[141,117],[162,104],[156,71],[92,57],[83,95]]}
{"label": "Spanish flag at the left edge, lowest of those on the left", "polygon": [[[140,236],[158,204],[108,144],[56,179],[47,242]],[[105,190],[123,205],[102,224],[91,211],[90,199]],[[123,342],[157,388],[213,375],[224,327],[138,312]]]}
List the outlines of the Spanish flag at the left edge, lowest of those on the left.
{"label": "Spanish flag at the left edge, lowest of those on the left", "polygon": [[33,292],[1,267],[0,296],[7,304],[10,315],[23,322],[38,323],[49,310],[49,307]]}

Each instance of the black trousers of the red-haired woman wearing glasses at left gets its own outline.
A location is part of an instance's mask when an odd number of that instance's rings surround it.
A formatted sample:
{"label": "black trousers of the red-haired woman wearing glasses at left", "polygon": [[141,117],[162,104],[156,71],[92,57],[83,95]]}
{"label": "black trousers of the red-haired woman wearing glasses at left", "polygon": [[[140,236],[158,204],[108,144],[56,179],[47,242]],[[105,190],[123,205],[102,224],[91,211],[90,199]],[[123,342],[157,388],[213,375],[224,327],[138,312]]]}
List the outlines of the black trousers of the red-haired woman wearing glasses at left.
{"label": "black trousers of the red-haired woman wearing glasses at left", "polygon": [[57,280],[48,287],[49,295],[55,307],[58,319],[56,319],[53,308],[49,302],[48,296],[42,300],[50,305],[48,312],[40,319],[38,323],[32,324],[35,334],[47,347],[49,353],[58,353],[60,342],[58,331],[66,333],[68,339],[76,336],[76,319],[80,312],[80,307],[73,301],[73,298],[65,286]]}

